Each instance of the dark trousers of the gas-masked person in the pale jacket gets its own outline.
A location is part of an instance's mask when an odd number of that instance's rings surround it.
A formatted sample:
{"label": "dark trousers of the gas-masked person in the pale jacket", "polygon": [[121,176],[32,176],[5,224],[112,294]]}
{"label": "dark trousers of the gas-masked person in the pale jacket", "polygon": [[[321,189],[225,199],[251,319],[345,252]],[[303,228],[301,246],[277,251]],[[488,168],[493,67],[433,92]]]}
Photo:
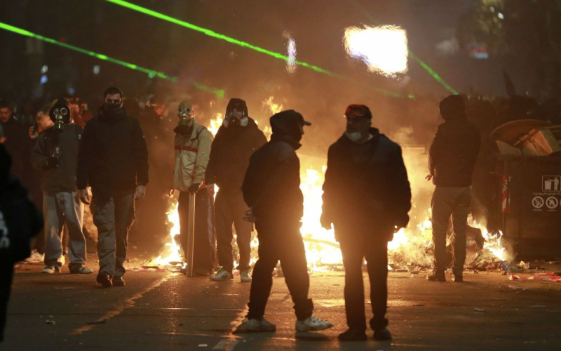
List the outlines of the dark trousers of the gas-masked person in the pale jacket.
{"label": "dark trousers of the gas-masked person in the pale jacket", "polygon": [[[189,225],[189,192],[180,192],[179,206],[181,246],[187,252],[187,227]],[[195,197],[195,238],[193,268],[208,270],[215,267],[214,201],[208,190],[201,189]]]}

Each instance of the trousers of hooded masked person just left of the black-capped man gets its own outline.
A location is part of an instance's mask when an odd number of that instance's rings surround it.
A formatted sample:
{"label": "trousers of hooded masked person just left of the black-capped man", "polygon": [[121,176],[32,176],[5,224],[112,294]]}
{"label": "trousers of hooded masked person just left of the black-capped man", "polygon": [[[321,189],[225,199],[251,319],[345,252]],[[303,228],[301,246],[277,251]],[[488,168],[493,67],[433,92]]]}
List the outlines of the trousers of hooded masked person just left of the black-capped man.
{"label": "trousers of hooded masked person just left of the black-capped man", "polygon": [[232,224],[236,228],[236,241],[240,251],[238,270],[250,270],[252,224],[243,220],[248,205],[243,201],[241,191],[219,190],[216,194],[216,237],[218,263],[224,270],[234,269],[232,253]]}

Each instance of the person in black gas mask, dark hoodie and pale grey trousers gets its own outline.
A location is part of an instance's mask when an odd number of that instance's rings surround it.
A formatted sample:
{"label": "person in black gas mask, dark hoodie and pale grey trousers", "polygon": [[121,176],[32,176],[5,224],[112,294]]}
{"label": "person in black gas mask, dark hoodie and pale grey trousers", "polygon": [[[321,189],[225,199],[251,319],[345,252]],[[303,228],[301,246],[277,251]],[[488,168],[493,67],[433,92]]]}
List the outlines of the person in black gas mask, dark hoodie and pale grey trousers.
{"label": "person in black gas mask, dark hoodie and pale grey trousers", "polygon": [[83,129],[72,121],[69,102],[60,99],[50,108],[51,124],[36,140],[32,164],[41,171],[45,218],[43,273],[60,272],[62,226],[68,228],[70,273],[90,274],[86,267],[86,237],[82,231],[83,204],[76,187],[78,150]]}

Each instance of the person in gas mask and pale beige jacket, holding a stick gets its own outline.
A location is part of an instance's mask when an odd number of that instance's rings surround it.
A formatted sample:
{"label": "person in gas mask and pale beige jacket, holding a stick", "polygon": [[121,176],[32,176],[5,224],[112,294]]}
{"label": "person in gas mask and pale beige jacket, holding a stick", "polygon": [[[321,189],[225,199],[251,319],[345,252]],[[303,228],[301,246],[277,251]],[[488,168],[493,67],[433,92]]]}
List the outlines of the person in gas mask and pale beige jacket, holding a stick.
{"label": "person in gas mask and pale beige jacket, holding a stick", "polygon": [[212,133],[195,120],[193,106],[181,102],[178,109],[179,124],[175,132],[175,170],[173,189],[180,191],[177,211],[180,216],[181,245],[187,253],[187,227],[189,224],[189,194],[195,197],[195,237],[193,267],[195,274],[212,274],[215,267],[214,188],[205,185],[205,170],[210,157]]}

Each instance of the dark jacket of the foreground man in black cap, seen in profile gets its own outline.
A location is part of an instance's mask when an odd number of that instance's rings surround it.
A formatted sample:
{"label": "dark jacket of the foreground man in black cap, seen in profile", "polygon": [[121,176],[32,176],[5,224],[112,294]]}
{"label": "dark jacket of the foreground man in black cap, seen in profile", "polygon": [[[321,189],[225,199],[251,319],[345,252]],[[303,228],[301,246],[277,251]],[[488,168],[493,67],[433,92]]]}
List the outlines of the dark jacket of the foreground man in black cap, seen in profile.
{"label": "dark jacket of the foreground man in black cap, seen in profile", "polygon": [[243,199],[259,223],[297,225],[304,214],[300,161],[295,152],[300,144],[272,118],[271,126],[271,141],[250,157]]}

